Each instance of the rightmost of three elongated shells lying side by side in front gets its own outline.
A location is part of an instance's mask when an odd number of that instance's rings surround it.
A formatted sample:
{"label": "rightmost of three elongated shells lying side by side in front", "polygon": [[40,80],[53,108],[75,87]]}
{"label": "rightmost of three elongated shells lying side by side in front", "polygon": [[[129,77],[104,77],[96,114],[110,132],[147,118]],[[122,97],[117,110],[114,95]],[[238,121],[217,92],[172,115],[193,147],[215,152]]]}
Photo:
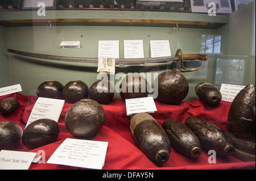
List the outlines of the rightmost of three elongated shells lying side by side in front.
{"label": "rightmost of three elongated shells lying side by side in front", "polygon": [[185,125],[199,138],[201,146],[205,150],[214,150],[220,155],[231,155],[234,146],[225,132],[217,125],[197,117],[188,117]]}

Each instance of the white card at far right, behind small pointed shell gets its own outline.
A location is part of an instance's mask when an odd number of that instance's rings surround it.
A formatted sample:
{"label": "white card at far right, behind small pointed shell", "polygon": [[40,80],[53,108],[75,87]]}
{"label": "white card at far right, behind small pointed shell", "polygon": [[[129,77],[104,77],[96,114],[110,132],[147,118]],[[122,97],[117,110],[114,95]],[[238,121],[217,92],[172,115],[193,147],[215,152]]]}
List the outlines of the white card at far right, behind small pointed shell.
{"label": "white card at far right, behind small pointed shell", "polygon": [[230,84],[221,84],[220,92],[222,94],[222,100],[226,102],[233,102],[234,98],[236,98],[237,94],[244,88],[245,86],[239,85],[230,85]]}

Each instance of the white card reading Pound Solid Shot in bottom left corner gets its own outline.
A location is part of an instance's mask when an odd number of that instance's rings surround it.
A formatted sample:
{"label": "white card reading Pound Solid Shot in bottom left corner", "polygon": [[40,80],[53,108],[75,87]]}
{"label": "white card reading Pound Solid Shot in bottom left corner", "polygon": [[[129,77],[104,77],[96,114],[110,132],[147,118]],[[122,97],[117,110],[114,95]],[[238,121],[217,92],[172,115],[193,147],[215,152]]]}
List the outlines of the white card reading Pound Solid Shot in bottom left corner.
{"label": "white card reading Pound Solid Shot in bottom left corner", "polygon": [[28,170],[31,163],[38,162],[40,155],[24,151],[0,151],[0,170]]}

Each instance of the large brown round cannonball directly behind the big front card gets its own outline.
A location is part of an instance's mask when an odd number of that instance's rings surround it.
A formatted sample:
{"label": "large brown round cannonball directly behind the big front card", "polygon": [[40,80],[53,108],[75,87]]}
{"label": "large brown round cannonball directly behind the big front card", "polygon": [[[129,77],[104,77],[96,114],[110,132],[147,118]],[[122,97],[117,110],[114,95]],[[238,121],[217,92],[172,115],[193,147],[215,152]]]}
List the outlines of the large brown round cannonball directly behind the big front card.
{"label": "large brown round cannonball directly behind the big front card", "polygon": [[73,104],[66,113],[65,127],[76,137],[95,136],[105,123],[101,104],[92,99],[82,99]]}

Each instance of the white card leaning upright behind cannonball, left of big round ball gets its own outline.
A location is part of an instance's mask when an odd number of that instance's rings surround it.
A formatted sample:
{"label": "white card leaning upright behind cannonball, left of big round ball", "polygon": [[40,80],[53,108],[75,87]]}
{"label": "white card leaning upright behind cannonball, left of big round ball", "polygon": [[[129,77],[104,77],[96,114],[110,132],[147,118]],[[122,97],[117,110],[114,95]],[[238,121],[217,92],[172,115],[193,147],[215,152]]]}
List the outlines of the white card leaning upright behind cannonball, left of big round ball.
{"label": "white card leaning upright behind cannonball, left of big round ball", "polygon": [[[59,121],[65,100],[39,97],[30,113],[27,125],[38,119]],[[26,127],[27,127],[26,125]]]}

